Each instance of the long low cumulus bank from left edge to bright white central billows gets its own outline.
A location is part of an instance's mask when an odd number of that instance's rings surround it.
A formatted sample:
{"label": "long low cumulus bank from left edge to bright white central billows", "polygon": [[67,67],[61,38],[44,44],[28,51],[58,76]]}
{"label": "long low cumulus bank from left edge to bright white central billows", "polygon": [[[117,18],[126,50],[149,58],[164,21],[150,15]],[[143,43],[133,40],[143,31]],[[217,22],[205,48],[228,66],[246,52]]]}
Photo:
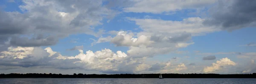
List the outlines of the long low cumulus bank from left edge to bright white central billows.
{"label": "long low cumulus bank from left edge to bright white central billows", "polygon": [[110,49],[102,51],[79,50],[76,56],[62,56],[50,47],[9,47],[8,51],[2,51],[0,66],[17,66],[23,68],[41,67],[56,69],[84,69],[96,70],[102,73],[137,73],[137,67],[143,59],[131,59],[122,51],[114,53]]}

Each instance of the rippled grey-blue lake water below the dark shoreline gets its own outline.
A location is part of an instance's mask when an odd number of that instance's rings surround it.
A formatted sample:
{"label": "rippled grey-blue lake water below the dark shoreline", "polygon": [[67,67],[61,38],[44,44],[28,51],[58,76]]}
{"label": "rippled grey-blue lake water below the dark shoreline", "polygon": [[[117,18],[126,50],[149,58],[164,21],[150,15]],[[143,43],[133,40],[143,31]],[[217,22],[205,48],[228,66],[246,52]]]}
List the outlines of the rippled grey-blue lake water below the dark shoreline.
{"label": "rippled grey-blue lake water below the dark shoreline", "polygon": [[0,79],[0,84],[255,84],[256,79]]}

